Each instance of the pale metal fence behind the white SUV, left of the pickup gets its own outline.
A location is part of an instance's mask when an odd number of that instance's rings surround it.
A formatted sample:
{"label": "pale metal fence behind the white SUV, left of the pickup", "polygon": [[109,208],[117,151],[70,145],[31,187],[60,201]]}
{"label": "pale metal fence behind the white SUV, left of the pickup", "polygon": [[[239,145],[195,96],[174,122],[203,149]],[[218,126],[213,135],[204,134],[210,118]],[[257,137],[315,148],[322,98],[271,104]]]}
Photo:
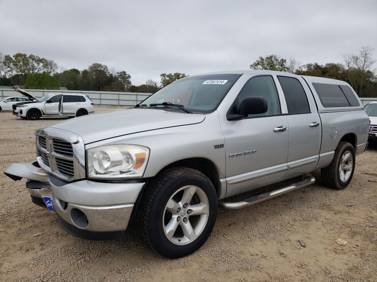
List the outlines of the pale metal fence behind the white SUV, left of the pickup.
{"label": "pale metal fence behind the white SUV, left of the pickup", "polygon": [[[133,92],[100,92],[100,91],[69,91],[69,90],[37,90],[25,89],[35,98],[40,98],[50,93],[81,93],[86,94],[93,100],[94,105],[107,106],[135,106],[152,93]],[[14,89],[0,89],[0,99],[9,96],[23,96]]]}

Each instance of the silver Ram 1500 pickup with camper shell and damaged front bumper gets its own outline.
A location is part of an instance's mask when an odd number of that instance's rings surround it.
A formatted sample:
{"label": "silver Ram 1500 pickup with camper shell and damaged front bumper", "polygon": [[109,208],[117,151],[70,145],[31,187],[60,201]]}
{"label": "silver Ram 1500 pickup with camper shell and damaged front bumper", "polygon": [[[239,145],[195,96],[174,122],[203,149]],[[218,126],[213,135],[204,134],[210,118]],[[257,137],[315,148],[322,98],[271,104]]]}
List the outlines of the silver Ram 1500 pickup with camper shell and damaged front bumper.
{"label": "silver Ram 1500 pickup with camper shell and damaged front bumper", "polygon": [[227,197],[318,169],[326,186],[345,188],[368,131],[346,82],[222,71],[179,79],[132,109],[37,129],[37,160],[4,173],[27,179],[32,202],[72,235],[122,238],[133,219],[148,246],[178,258],[204,244],[218,206],[247,207],[315,179]]}

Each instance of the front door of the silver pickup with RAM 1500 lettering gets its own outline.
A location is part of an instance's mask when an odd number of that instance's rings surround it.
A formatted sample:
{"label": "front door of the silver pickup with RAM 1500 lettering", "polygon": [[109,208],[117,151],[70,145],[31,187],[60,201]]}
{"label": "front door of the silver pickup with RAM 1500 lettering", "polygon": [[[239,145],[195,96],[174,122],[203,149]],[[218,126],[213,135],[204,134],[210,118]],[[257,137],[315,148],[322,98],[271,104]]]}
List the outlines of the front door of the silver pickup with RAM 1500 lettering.
{"label": "front door of the silver pickup with RAM 1500 lettering", "polygon": [[282,98],[278,95],[273,77],[249,79],[233,106],[238,110],[239,103],[251,96],[265,98],[267,112],[239,120],[221,120],[225,136],[225,197],[278,182],[287,173],[288,121],[282,113]]}

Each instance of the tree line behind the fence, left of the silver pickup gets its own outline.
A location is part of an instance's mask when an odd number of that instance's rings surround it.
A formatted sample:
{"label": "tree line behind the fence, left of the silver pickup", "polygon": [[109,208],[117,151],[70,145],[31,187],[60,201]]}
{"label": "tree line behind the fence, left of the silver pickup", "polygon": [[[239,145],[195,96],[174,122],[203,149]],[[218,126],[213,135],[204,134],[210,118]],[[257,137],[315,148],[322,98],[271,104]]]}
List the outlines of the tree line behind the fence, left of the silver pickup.
{"label": "tree line behind the fence, left of the silver pickup", "polygon": [[0,52],[0,85],[24,85],[26,89],[59,89],[82,91],[115,91],[153,93],[177,79],[183,73],[162,73],[161,84],[148,79],[142,85],[132,85],[131,75],[126,71],[116,71],[104,64],[94,63],[80,71],[60,69],[54,60],[17,53],[13,56]]}

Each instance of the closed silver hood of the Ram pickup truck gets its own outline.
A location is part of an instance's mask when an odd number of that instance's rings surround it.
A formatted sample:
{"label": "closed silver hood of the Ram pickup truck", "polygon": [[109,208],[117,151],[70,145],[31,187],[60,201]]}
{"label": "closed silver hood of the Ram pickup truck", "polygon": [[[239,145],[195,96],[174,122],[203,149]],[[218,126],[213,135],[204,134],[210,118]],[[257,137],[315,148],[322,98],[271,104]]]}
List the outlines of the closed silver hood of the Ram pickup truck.
{"label": "closed silver hood of the Ram pickup truck", "polygon": [[49,127],[80,135],[84,143],[92,143],[137,132],[201,123],[203,114],[167,112],[162,109],[127,109],[72,118]]}

